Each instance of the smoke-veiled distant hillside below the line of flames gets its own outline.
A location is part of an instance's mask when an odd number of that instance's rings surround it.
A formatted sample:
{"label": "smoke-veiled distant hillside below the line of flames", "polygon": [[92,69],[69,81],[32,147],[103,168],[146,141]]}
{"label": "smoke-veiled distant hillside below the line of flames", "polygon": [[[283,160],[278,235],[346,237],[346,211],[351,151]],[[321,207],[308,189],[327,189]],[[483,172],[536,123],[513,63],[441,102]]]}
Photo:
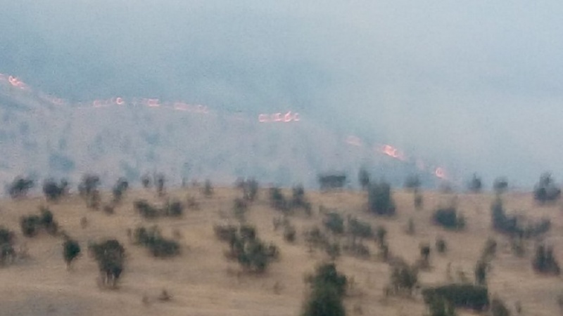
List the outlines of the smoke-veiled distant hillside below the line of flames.
{"label": "smoke-veiled distant hillside below the line of flames", "polygon": [[[211,178],[232,183],[255,176],[263,183],[316,185],[317,174],[345,171],[356,185],[360,166],[402,182],[415,164],[386,157],[369,144],[315,121],[306,113],[228,113],[156,99],[95,100],[68,104],[14,77],[0,77],[0,181],[82,173],[138,180],[141,174]],[[348,142],[347,142],[348,138]],[[426,185],[436,177],[422,173]],[[106,183],[108,184],[108,183]]]}

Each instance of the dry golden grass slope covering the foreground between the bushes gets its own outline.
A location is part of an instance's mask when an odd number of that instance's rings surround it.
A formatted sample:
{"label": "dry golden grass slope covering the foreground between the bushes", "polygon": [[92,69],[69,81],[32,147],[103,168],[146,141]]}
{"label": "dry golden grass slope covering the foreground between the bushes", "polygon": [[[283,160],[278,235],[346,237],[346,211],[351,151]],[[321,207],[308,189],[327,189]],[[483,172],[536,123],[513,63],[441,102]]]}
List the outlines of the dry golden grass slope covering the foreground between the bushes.
{"label": "dry golden grass slope covering the foreground between the bushes", "polygon": [[[488,237],[499,244],[493,259],[493,270],[488,284],[491,294],[502,298],[514,312],[519,301],[523,315],[559,315],[557,296],[563,294],[559,277],[536,275],[531,269],[533,242],[529,242],[524,258],[517,258],[510,251],[506,237],[491,230],[489,206],[492,195],[459,195],[457,203],[467,217],[467,230],[448,232],[431,225],[432,211],[440,204],[448,203],[451,195],[424,192],[424,210],[415,211],[412,194],[396,192],[398,206],[396,218],[377,218],[364,211],[367,197],[362,192],[308,192],[313,204],[313,216],[296,215],[291,223],[296,226],[298,238],[295,244],[284,241],[283,230],[274,231],[272,220],[279,216],[267,204],[267,191],[262,190],[257,202],[248,211],[248,222],[258,228],[258,235],[267,242],[274,242],[281,251],[279,261],[272,263],[265,275],[242,274],[234,262],[224,257],[226,245],[215,238],[213,225],[235,223],[232,216],[232,200],[240,192],[234,189],[215,189],[215,195],[206,199],[194,189],[173,190],[170,196],[186,201],[194,196],[201,209],[186,210],[183,218],[144,220],[133,209],[133,201],[146,198],[156,201],[152,191],[129,192],[115,214],[85,208],[80,197],[67,197],[61,202],[49,204],[61,229],[77,239],[83,249],[72,270],[67,270],[62,258],[60,237],[39,235],[25,238],[20,233],[19,218],[36,213],[38,206],[47,204],[43,198],[0,203],[0,225],[18,232],[18,245],[26,244],[29,258],[18,259],[13,265],[0,268],[0,315],[229,315],[265,316],[299,315],[307,288],[303,283],[305,273],[312,272],[317,263],[326,259],[322,251],[310,253],[301,232],[312,225],[320,225],[320,205],[338,209],[344,216],[351,214],[372,225],[384,225],[393,255],[402,256],[409,262],[419,257],[419,244],[428,242],[432,247],[429,271],[421,272],[423,284],[446,281],[446,270],[451,263],[452,274],[462,270],[473,279],[473,267]],[[110,199],[109,195],[103,197]],[[552,229],[547,240],[555,246],[560,258],[563,249],[563,219],[560,206],[538,207],[529,194],[507,194],[507,209],[522,210],[527,216],[547,216]],[[81,218],[87,217],[88,225],[82,228]],[[415,235],[407,235],[407,221],[413,218]],[[146,249],[132,244],[127,237],[128,228],[137,225],[157,224],[167,237],[179,232],[182,254],[177,258],[151,257]],[[448,252],[439,255],[434,242],[437,236],[448,242]],[[96,280],[96,263],[86,254],[87,242],[103,237],[115,237],[125,244],[127,262],[119,289],[100,289]],[[372,251],[369,259],[343,255],[337,259],[339,270],[353,278],[353,289],[345,299],[348,315],[410,316],[423,315],[424,303],[419,296],[399,298],[384,296],[388,283],[388,265],[377,258],[377,246],[366,243]],[[172,298],[159,299],[163,289]],[[472,315],[460,311],[459,315]]]}

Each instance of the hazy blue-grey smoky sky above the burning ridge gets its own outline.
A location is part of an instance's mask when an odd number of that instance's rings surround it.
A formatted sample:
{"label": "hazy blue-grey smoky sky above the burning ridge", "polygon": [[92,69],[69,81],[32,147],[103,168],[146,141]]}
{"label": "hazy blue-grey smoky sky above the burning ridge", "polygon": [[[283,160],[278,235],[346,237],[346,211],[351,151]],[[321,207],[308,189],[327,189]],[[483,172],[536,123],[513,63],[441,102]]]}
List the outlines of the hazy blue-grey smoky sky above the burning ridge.
{"label": "hazy blue-grey smoky sky above the burning ridge", "polygon": [[[293,3],[293,4],[292,4]],[[65,98],[291,107],[469,175],[563,180],[563,1],[0,0],[0,72]]]}

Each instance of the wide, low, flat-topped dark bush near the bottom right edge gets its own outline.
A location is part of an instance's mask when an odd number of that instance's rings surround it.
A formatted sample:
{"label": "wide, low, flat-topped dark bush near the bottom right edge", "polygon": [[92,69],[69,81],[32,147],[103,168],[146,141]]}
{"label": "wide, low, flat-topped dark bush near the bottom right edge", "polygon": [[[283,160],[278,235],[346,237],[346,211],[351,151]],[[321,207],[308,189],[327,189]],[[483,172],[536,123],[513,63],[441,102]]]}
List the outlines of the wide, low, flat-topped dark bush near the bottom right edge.
{"label": "wide, low, flat-topped dark bush near the bottom right edge", "polygon": [[488,307],[488,289],[474,284],[446,284],[422,290],[426,304],[436,297],[441,297],[459,308],[471,308],[476,311]]}

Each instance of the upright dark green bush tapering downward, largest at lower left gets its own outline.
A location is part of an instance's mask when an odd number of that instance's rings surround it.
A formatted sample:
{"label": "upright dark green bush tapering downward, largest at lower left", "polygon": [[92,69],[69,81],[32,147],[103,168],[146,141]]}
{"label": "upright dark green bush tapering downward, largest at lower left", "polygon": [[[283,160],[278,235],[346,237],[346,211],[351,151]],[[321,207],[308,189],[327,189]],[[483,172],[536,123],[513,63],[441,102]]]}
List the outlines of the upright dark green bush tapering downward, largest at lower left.
{"label": "upright dark green bush tapering downward, largest at lower left", "polygon": [[124,268],[123,246],[115,239],[108,239],[99,244],[90,244],[88,250],[98,263],[101,283],[106,287],[115,288]]}

